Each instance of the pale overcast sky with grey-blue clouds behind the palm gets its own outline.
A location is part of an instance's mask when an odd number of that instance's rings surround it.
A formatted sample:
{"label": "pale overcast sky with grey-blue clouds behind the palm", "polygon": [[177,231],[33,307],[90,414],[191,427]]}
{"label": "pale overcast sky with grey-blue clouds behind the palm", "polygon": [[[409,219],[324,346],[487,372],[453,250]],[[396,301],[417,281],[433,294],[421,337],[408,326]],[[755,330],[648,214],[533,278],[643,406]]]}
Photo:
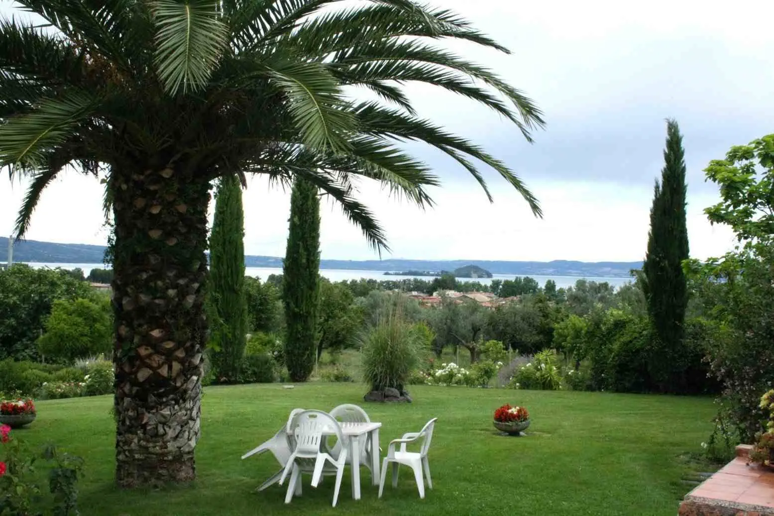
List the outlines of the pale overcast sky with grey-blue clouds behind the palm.
{"label": "pale overcast sky with grey-blue clouds behind the palm", "polygon": [[[440,0],[433,2],[438,5]],[[7,2],[6,2],[7,5]],[[703,214],[717,201],[703,169],[731,145],[774,132],[774,2],[521,2],[443,0],[512,55],[455,45],[498,71],[545,113],[527,144],[512,125],[464,99],[412,87],[420,114],[485,146],[539,198],[534,218],[487,171],[495,203],[454,162],[411,149],[442,178],[422,212],[363,184],[394,258],[636,261],[646,249],[653,181],[663,166],[665,118],[676,118],[688,166],[691,255],[721,255],[734,241]],[[0,7],[8,13],[8,8]],[[0,234],[9,234],[23,186],[0,179]],[[245,252],[283,256],[289,193],[255,179],[245,191]],[[65,173],[43,195],[27,237],[104,244],[101,185]],[[374,258],[339,208],[323,210],[323,258]],[[390,258],[383,255],[383,258]]]}

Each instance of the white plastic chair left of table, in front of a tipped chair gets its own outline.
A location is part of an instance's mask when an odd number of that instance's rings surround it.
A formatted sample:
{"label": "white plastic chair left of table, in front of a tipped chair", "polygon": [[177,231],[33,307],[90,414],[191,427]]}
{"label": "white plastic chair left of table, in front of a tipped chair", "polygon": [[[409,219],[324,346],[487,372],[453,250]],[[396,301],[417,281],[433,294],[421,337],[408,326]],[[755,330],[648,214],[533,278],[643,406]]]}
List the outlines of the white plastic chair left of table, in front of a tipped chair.
{"label": "white plastic chair left of table, in front of a tipped chair", "polygon": [[320,410],[300,412],[289,424],[293,428],[293,453],[279,478],[279,484],[282,485],[287,474],[290,473],[285,503],[290,503],[294,493],[300,494],[301,473],[312,473],[312,487],[317,487],[323,475],[335,474],[333,507],[336,507],[341,489],[341,477],[344,475],[344,465],[347,462],[347,446],[342,446],[341,453],[334,459],[329,453],[321,451],[320,445],[323,443],[323,432],[326,430],[333,431],[339,442],[346,443],[341,426],[329,414]]}

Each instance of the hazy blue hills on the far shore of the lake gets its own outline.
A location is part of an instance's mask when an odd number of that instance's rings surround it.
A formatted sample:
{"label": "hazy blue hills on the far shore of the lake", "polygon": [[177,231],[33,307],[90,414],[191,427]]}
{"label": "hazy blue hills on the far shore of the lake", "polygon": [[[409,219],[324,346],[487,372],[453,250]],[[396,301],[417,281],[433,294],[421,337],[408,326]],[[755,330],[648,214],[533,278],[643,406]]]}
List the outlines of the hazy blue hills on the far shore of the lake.
{"label": "hazy blue hills on the far shore of the lake", "polygon": [[[47,263],[102,263],[104,246],[86,244],[54,244],[34,240],[14,246],[14,261]],[[8,238],[0,237],[0,262],[8,260]],[[475,265],[492,274],[532,276],[578,276],[585,278],[628,278],[632,268],[641,268],[642,261],[493,261],[493,260],[320,260],[320,268],[356,271],[454,271]],[[245,256],[247,267],[282,267],[283,259],[275,256]]]}

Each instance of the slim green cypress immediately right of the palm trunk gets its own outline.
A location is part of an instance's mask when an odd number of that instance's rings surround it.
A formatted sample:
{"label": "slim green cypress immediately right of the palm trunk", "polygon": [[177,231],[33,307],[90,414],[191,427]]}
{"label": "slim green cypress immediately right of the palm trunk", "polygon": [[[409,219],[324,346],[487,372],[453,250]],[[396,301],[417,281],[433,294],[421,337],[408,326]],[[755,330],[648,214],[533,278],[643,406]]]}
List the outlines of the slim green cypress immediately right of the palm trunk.
{"label": "slim green cypress immediately right of the palm trunk", "polygon": [[213,362],[219,378],[238,381],[247,333],[245,214],[236,176],[221,179],[210,237],[209,304]]}

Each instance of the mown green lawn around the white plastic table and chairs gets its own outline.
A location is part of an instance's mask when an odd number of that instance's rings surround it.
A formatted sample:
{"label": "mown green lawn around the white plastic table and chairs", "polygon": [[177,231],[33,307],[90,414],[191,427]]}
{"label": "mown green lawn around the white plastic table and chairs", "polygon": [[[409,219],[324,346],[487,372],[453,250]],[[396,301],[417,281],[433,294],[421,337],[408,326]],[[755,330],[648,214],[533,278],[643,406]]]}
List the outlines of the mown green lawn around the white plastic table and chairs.
{"label": "mown green lawn around the white plastic table and chairs", "polygon": [[[673,516],[690,486],[681,479],[711,432],[708,398],[587,392],[505,391],[416,386],[410,405],[362,402],[358,384],[279,384],[205,390],[197,483],[166,491],[122,491],[111,483],[114,427],[111,398],[39,402],[38,419],[15,436],[37,445],[53,440],[86,460],[80,484],[84,516],[197,514],[663,514]],[[433,490],[420,500],[413,476],[381,500],[361,470],[362,499],[353,501],[349,470],[336,508],[333,480],[317,489],[304,477],[303,497],[283,504],[285,488],[256,493],[277,469],[266,454],[242,453],[272,436],[292,408],[364,406],[383,423],[381,445],[438,417],[430,470]],[[504,402],[525,405],[529,436],[499,436],[491,413]],[[287,484],[286,484],[287,485]]]}

